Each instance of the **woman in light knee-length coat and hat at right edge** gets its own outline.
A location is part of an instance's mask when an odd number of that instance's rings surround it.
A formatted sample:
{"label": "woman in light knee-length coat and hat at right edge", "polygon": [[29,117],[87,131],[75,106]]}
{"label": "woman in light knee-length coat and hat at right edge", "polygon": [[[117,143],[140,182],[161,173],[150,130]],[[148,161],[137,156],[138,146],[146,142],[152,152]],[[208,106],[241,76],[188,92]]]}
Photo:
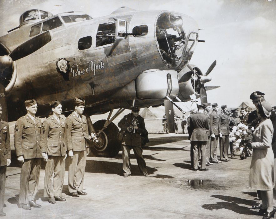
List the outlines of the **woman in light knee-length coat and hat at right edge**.
{"label": "woman in light knee-length coat and hat at right edge", "polygon": [[253,155],[249,171],[249,187],[260,190],[262,208],[255,215],[264,215],[263,219],[274,217],[273,187],[274,187],[274,154],[271,147],[273,125],[269,119],[271,105],[261,102],[257,106],[259,124],[253,132]]}

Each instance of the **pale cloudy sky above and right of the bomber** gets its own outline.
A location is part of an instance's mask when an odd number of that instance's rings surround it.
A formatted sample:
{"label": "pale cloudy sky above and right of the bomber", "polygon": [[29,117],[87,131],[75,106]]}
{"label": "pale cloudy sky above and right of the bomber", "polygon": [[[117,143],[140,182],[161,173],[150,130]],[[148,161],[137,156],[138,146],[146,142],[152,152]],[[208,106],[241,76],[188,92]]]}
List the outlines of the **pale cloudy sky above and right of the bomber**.
{"label": "pale cloudy sky above and right of the bomber", "polygon": [[32,8],[53,14],[84,11],[92,17],[108,15],[127,6],[136,10],[171,10],[193,17],[199,39],[190,64],[203,72],[217,60],[206,85],[208,102],[235,107],[262,91],[276,105],[276,1],[275,0],[0,0],[0,36],[19,25],[19,16]]}

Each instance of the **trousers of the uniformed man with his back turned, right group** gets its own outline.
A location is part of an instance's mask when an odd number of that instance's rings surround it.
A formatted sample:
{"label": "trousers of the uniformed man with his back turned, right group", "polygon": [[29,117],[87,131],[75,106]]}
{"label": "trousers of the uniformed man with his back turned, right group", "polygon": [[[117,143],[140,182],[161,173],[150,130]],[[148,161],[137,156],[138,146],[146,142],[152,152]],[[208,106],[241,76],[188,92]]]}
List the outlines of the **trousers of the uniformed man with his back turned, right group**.
{"label": "trousers of the uniformed man with his back turned, right group", "polygon": [[201,169],[206,169],[206,141],[191,141],[191,150],[193,150],[193,160],[191,159],[191,164],[193,169],[198,169],[198,154],[199,151],[201,156]]}

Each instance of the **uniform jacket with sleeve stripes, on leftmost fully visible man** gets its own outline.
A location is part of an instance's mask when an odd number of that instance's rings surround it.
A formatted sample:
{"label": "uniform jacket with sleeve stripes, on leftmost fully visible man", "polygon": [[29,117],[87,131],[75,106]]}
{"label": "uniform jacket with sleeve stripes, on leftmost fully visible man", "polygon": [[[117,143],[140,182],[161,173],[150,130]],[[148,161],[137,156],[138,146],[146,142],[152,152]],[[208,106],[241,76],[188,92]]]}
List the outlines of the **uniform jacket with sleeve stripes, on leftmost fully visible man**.
{"label": "uniform jacket with sleeve stripes, on leftmost fully visible man", "polygon": [[24,159],[41,158],[42,145],[40,136],[42,135],[41,119],[35,117],[35,122],[25,115],[20,117],[14,127],[14,147],[17,156],[23,155]]}

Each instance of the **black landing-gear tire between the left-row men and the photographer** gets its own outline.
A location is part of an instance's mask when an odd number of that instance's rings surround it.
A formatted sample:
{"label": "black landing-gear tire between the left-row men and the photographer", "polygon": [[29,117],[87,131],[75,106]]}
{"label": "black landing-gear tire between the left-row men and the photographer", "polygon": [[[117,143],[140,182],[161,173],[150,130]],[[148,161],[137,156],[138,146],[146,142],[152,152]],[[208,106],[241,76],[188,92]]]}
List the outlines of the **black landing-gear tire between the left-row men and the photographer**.
{"label": "black landing-gear tire between the left-row men and the photographer", "polygon": [[[106,120],[95,122],[94,128],[98,133],[103,128]],[[90,147],[90,151],[97,157],[114,157],[121,149],[121,141],[117,139],[119,132],[118,127],[112,122],[99,135],[99,143],[96,146]]]}

